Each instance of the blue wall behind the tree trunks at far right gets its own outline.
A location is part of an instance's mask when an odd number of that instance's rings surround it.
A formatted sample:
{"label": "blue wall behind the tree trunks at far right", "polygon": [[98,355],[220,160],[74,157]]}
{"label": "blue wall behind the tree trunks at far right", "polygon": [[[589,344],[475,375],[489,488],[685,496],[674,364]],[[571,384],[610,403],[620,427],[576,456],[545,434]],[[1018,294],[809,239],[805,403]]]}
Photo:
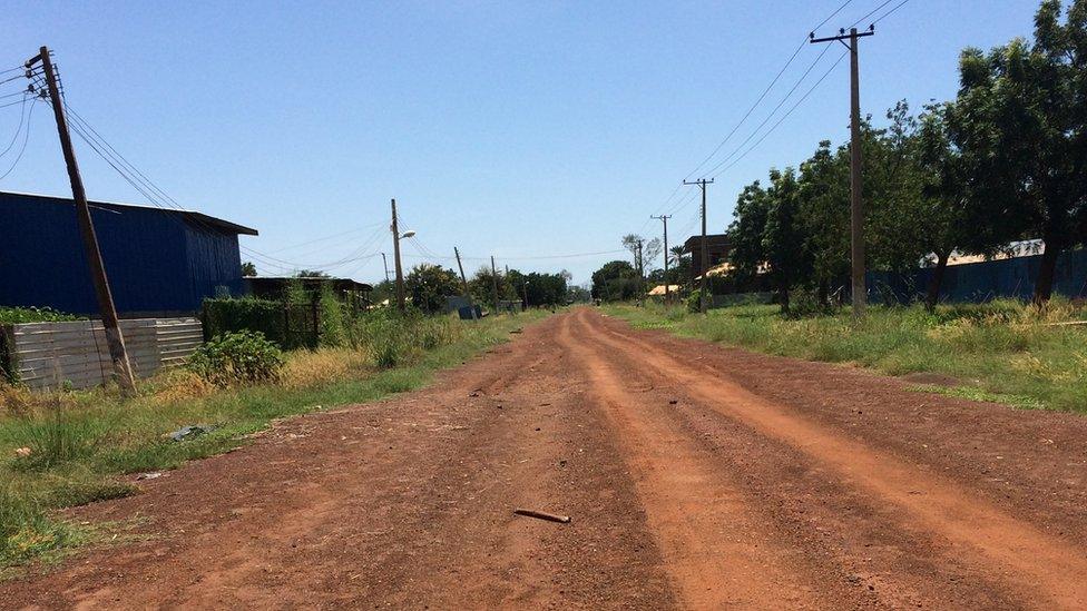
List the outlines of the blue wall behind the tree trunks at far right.
{"label": "blue wall behind the tree trunks at far right", "polygon": [[[1013,259],[971,263],[949,266],[940,288],[940,300],[951,303],[979,303],[998,297],[1029,299],[1034,295],[1041,255]],[[870,299],[893,298],[910,302],[923,298],[932,269],[919,269],[912,274],[871,272],[868,274]],[[1057,277],[1054,294],[1066,297],[1087,297],[1087,250],[1071,250],[1057,259]]]}

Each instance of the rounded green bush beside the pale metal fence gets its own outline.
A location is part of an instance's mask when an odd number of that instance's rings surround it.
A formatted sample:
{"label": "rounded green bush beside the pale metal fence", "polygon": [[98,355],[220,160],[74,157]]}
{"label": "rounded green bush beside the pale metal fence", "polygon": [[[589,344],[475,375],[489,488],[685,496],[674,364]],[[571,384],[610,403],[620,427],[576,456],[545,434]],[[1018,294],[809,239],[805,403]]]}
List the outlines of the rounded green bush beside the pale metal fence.
{"label": "rounded green bush beside the pale metal fence", "polygon": [[283,352],[261,332],[216,335],[188,358],[187,367],[216,386],[274,382],[283,368]]}

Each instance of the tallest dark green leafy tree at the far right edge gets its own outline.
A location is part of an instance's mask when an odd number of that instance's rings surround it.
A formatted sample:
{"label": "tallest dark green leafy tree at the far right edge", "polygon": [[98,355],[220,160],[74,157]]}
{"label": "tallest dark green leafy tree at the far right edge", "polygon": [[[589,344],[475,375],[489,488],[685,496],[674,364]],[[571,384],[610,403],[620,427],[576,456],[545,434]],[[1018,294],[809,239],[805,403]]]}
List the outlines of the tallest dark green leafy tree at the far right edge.
{"label": "tallest dark green leafy tree at the far right edge", "polygon": [[1061,250],[1087,235],[1087,0],[1071,3],[1065,24],[1060,17],[1060,0],[1045,0],[1034,43],[966,49],[950,121],[978,195],[971,220],[1045,243],[1037,305],[1052,294]]}

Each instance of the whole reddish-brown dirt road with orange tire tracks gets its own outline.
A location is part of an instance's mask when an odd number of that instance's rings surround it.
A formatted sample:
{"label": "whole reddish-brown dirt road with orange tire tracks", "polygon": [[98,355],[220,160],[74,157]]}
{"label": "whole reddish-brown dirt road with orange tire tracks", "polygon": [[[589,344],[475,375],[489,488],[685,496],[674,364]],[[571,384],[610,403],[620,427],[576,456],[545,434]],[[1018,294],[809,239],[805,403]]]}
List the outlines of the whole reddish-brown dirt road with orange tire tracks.
{"label": "whole reddish-brown dirt road with orange tire tracks", "polygon": [[588,308],[145,487],[0,608],[1087,608],[1087,418]]}

